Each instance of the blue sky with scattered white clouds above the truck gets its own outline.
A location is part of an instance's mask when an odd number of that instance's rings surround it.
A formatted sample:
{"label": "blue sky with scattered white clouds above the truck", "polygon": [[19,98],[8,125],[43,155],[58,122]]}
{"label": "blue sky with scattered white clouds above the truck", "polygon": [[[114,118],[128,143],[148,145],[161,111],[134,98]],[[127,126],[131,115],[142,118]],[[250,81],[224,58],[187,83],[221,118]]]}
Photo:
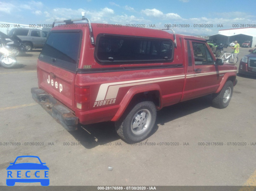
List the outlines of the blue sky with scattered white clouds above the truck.
{"label": "blue sky with scattered white clouds above the truck", "polygon": [[52,24],[81,18],[91,23],[136,25],[176,33],[214,35],[256,27],[256,0],[0,0],[0,22]]}

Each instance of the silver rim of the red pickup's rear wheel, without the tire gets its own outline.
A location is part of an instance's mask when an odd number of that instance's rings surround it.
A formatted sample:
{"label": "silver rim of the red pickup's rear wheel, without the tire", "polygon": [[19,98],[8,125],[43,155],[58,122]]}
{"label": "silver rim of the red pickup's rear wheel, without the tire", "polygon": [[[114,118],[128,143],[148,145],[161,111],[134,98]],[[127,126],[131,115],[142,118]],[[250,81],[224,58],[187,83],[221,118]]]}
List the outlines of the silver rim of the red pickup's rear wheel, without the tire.
{"label": "silver rim of the red pickup's rear wheel, without the tire", "polygon": [[132,118],[131,130],[132,133],[140,135],[144,133],[151,122],[151,113],[148,109],[141,109]]}

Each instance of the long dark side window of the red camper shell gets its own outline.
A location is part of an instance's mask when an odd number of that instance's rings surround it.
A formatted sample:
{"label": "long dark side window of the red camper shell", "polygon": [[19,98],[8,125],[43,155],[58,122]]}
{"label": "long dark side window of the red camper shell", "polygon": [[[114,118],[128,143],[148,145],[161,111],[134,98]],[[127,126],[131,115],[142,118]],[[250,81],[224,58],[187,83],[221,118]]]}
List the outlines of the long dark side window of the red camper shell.
{"label": "long dark side window of the red camper shell", "polygon": [[170,39],[102,34],[98,36],[96,48],[96,59],[106,64],[164,62],[173,57]]}

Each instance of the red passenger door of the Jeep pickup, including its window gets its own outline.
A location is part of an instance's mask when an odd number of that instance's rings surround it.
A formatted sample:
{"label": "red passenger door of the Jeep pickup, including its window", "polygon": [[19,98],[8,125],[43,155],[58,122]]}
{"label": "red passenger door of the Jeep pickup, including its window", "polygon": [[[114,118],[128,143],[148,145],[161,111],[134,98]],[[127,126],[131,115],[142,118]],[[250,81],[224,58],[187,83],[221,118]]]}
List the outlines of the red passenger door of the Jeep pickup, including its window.
{"label": "red passenger door of the Jeep pickup, including its window", "polygon": [[214,93],[218,88],[220,77],[215,59],[206,43],[191,41],[192,63],[194,66],[194,97]]}

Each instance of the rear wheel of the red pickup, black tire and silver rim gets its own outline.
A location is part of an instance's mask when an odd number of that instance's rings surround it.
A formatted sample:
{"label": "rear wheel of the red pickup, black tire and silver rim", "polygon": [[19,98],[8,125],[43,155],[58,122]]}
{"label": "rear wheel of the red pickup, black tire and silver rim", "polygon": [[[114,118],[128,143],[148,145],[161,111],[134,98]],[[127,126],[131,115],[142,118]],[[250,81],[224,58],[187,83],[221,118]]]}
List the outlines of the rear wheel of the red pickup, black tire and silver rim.
{"label": "rear wheel of the red pickup, black tire and silver rim", "polygon": [[146,139],[156,122],[156,106],[151,101],[142,101],[128,109],[115,123],[117,134],[127,143]]}

